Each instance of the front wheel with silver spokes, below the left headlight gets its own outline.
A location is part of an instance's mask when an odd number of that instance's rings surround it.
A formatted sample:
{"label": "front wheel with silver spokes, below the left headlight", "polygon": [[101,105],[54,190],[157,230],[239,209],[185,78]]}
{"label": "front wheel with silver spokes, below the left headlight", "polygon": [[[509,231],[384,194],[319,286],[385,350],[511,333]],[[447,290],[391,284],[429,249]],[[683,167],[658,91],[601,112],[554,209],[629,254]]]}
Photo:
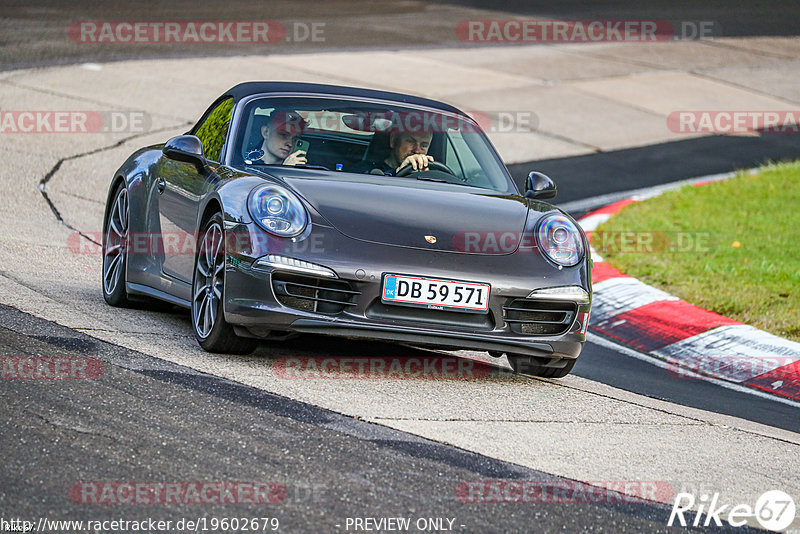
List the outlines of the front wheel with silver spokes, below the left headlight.
{"label": "front wheel with silver spokes, below the left headlight", "polygon": [[225,233],[222,215],[215,213],[201,226],[192,277],[192,328],[197,342],[208,352],[249,354],[255,339],[237,336],[225,321]]}

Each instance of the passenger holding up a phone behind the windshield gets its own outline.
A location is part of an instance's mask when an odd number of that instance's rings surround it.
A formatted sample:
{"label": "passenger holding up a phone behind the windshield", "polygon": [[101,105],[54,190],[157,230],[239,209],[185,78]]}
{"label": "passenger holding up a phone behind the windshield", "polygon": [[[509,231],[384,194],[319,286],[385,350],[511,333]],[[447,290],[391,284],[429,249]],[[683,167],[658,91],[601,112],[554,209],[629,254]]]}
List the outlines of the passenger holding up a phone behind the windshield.
{"label": "passenger holding up a phone behind the windshield", "polygon": [[305,129],[306,121],[296,111],[274,110],[261,125],[263,143],[248,152],[245,161],[267,165],[305,165],[306,153],[302,150],[292,152]]}

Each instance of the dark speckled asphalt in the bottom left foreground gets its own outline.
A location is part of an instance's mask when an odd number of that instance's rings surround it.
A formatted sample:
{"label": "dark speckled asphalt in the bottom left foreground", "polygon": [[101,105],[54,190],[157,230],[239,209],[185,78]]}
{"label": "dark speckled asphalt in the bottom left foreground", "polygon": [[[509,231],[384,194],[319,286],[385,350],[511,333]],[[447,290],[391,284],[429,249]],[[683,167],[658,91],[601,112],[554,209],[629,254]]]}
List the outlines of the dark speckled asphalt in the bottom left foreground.
{"label": "dark speckled asphalt in the bottom left foreground", "polygon": [[[668,506],[613,492],[600,504],[462,503],[462,482],[571,481],[165,364],[5,306],[0,317],[0,356],[91,356],[104,365],[97,380],[18,380],[0,391],[0,423],[15,429],[0,440],[6,517],[11,498],[14,517],[26,519],[269,516],[281,532],[407,516],[451,518],[456,532],[670,530]],[[281,484],[285,497],[266,506],[64,504],[76,481],[186,481],[187,467],[197,481]]]}

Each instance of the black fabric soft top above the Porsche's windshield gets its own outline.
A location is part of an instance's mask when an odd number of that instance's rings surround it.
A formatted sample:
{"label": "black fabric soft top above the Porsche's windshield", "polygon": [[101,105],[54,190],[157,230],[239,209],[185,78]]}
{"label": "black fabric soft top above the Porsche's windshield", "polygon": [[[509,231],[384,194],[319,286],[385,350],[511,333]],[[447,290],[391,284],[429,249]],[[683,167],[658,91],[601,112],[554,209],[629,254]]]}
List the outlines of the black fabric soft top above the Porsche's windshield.
{"label": "black fabric soft top above the Porsche's windshield", "polygon": [[223,96],[230,95],[236,101],[256,94],[262,93],[317,93],[337,96],[353,96],[363,98],[377,98],[382,100],[392,100],[404,104],[425,106],[450,113],[463,115],[464,113],[451,105],[422,98],[418,96],[393,93],[391,91],[378,91],[375,89],[362,89],[359,87],[346,87],[343,85],[327,85],[320,83],[301,83],[301,82],[244,82],[231,87]]}

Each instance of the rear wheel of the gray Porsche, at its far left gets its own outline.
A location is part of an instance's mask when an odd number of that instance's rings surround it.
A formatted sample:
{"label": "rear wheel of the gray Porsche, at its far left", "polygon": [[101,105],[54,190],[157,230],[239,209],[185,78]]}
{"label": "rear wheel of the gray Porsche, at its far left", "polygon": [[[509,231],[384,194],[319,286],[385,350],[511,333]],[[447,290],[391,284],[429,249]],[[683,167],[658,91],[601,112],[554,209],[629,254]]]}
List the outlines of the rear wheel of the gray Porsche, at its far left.
{"label": "rear wheel of the gray Porsche, at its far left", "polygon": [[125,183],[117,186],[112,198],[114,200],[103,228],[103,298],[111,306],[128,308],[132,305],[125,289],[130,204]]}

